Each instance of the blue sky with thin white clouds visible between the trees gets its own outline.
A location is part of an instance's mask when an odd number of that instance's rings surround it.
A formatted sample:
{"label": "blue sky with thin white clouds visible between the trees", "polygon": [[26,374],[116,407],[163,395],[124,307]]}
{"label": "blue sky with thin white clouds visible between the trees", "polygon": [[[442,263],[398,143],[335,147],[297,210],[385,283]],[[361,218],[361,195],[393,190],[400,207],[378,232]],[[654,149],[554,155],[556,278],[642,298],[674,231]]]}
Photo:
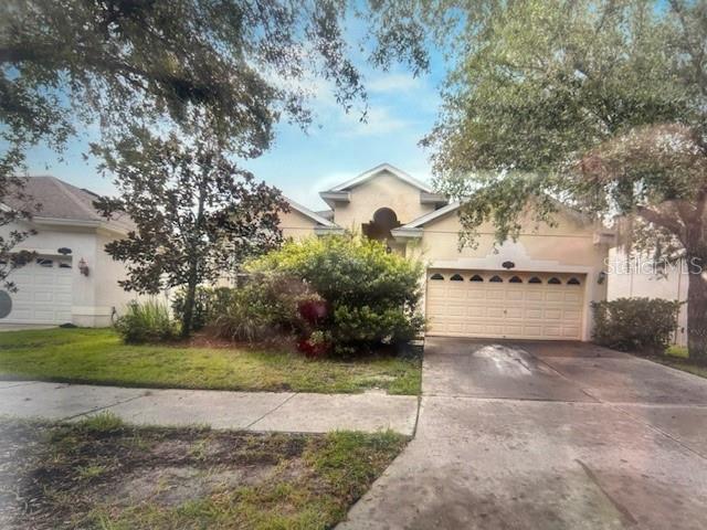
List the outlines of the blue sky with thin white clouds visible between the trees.
{"label": "blue sky with thin white clouds visible between the trees", "polygon": [[[359,33],[349,29],[350,34]],[[356,46],[352,46],[356,47]],[[434,125],[440,104],[439,87],[446,64],[433,55],[429,73],[413,77],[402,66],[389,72],[373,70],[362,56],[354,55],[368,93],[367,121],[359,105],[347,114],[334,99],[325,82],[315,81],[310,100],[314,123],[307,131],[281,123],[272,148],[255,160],[243,162],[256,178],[313,209],[326,204],[318,192],[349,180],[383,162],[429,180],[430,152],[418,142]],[[59,156],[45,147],[28,152],[30,174],[52,174],[74,186],[102,194],[115,191],[110,179],[101,177],[96,160],[85,160],[91,128],[70,141]]]}

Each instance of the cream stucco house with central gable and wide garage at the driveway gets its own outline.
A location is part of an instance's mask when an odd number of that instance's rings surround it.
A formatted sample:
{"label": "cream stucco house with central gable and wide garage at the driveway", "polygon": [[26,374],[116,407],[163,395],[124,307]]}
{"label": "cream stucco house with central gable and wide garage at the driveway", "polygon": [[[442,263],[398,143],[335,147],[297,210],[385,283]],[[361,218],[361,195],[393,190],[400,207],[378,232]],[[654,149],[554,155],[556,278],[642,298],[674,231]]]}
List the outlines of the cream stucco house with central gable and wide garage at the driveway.
{"label": "cream stucco house with central gable and wide garage at the driveway", "polygon": [[589,340],[592,300],[606,296],[611,237],[564,211],[558,225],[528,222],[517,242],[494,248],[493,226],[475,248],[458,250],[458,204],[390,165],[319,193],[330,206],[314,212],[289,201],[286,237],[360,231],[391,252],[426,264],[428,335]]}

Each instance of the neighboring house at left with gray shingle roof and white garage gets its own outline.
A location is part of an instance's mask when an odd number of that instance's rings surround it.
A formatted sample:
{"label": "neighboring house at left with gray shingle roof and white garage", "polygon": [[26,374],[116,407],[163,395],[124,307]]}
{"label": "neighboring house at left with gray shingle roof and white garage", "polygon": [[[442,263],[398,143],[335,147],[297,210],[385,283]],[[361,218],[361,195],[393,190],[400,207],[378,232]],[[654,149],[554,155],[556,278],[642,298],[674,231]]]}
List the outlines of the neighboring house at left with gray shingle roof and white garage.
{"label": "neighboring house at left with gray shingle roof and white garage", "polygon": [[[31,263],[11,273],[18,292],[10,293],[12,309],[0,319],[0,329],[19,326],[109,326],[114,311],[135,295],[125,293],[118,279],[124,265],[105,253],[105,244],[133,227],[128,219],[106,221],[93,206],[96,194],[53,177],[27,178],[25,192],[41,204],[31,222],[0,227],[36,230],[17,250],[34,251]],[[2,208],[21,208],[12,198]]]}

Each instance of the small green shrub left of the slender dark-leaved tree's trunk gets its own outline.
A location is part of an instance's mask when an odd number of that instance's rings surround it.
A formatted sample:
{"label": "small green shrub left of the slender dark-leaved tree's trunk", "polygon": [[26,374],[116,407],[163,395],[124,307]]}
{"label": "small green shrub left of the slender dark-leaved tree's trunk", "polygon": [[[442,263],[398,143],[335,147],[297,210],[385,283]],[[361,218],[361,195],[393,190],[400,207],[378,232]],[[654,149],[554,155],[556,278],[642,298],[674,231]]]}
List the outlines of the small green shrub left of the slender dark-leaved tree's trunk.
{"label": "small green shrub left of the slender dark-leaved tree's trunk", "polygon": [[128,343],[175,340],[179,335],[179,324],[171,318],[169,308],[157,300],[129,303],[115,328]]}

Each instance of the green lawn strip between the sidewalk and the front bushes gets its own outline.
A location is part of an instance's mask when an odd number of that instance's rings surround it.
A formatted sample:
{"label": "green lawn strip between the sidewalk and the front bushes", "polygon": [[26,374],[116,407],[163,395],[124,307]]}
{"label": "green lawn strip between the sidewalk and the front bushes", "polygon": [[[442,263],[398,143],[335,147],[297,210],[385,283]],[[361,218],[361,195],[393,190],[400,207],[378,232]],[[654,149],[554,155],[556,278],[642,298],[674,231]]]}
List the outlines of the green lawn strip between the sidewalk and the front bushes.
{"label": "green lawn strip between the sidewalk and the front bushes", "polygon": [[0,379],[122,386],[420,393],[420,359],[308,360],[285,350],[124,344],[112,329],[0,333]]}

